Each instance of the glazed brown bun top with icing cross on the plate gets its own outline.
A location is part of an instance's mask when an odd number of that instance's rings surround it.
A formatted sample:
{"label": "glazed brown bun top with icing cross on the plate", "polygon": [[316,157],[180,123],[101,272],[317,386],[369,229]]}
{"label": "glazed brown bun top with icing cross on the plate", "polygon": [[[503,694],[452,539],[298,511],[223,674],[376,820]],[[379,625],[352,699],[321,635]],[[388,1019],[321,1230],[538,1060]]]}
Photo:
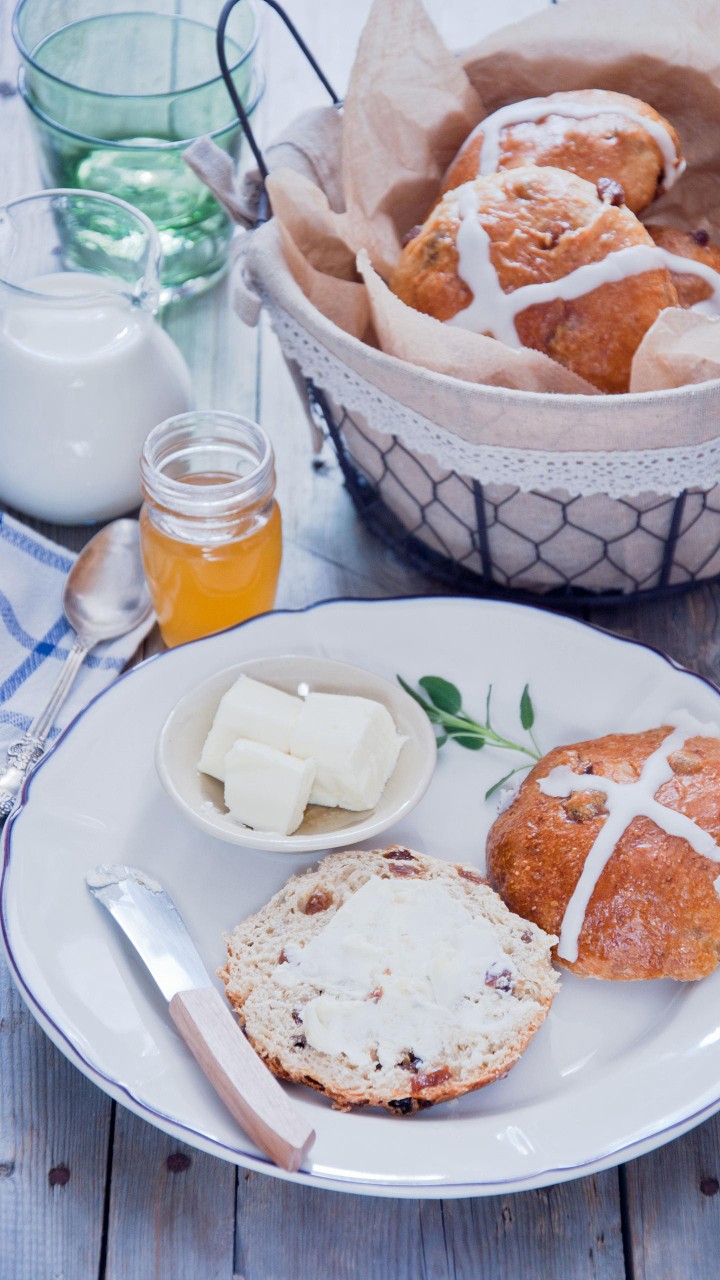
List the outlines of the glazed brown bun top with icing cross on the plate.
{"label": "glazed brown bun top with icing cross on the plate", "polygon": [[[720,867],[710,855],[720,838],[720,741],[680,735],[670,751],[662,746],[669,733],[670,727],[611,733],[557,748],[533,768],[489,832],[491,883],[511,911],[560,934],[559,961],[584,977],[693,980],[717,966]],[[634,817],[624,826],[624,815],[620,829],[611,832],[600,876],[593,864],[585,872],[585,893],[592,890],[587,909],[579,892],[575,908],[568,910],[588,854],[609,822],[607,796],[600,781],[593,787],[593,776],[635,782],[659,749],[669,781],[655,797],[674,810],[670,824],[676,814],[693,820],[700,844],[705,838],[711,846],[707,856],[652,818]],[[541,785],[548,786],[543,780],[556,765],[580,776],[582,788],[568,794],[568,787],[556,787],[565,797],[544,794]],[[634,804],[630,808],[637,813]],[[666,815],[660,820],[669,824]]]}

